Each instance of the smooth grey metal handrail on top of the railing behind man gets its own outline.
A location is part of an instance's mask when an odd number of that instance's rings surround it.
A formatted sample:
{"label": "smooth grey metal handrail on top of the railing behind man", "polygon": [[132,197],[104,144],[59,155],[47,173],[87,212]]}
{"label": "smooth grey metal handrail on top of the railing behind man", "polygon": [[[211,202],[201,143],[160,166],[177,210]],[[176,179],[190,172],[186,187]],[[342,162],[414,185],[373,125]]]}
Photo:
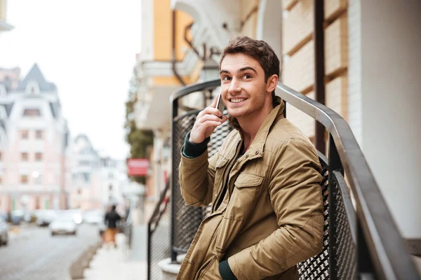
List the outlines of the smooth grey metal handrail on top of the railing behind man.
{"label": "smooth grey metal handrail on top of the railing behind man", "polygon": [[[187,85],[171,95],[171,102],[174,106],[178,99],[187,94],[218,86],[219,79]],[[370,261],[381,279],[420,279],[420,274],[348,123],[335,111],[286,85],[278,83],[276,88],[283,101],[317,120],[330,133],[330,144],[335,146],[335,153],[338,153],[340,158],[340,165],[333,167],[332,171],[345,171],[356,200],[357,225],[352,228],[356,228],[354,233],[359,245],[359,257],[364,259],[361,254],[368,249]],[[365,248],[365,244],[368,248]],[[364,264],[360,262],[357,262],[357,266],[363,267]]]}

